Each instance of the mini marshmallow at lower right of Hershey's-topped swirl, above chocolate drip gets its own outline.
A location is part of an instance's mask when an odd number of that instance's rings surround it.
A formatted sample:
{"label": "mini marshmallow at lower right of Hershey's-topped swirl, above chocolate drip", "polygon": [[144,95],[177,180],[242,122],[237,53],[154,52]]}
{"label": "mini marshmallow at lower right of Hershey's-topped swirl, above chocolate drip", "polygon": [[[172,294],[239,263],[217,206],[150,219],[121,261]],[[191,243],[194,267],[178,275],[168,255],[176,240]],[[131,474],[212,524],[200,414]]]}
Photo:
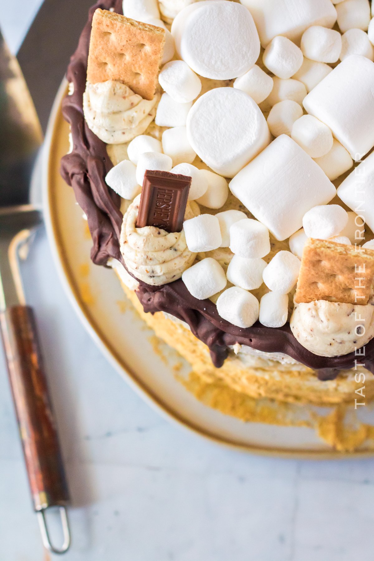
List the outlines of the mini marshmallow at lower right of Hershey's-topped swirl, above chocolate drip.
{"label": "mini marshmallow at lower right of Hershey's-topped swirl, above chocolate drip", "polygon": [[188,292],[198,300],[205,300],[223,290],[227,284],[221,265],[212,257],[206,257],[186,269],[182,280]]}

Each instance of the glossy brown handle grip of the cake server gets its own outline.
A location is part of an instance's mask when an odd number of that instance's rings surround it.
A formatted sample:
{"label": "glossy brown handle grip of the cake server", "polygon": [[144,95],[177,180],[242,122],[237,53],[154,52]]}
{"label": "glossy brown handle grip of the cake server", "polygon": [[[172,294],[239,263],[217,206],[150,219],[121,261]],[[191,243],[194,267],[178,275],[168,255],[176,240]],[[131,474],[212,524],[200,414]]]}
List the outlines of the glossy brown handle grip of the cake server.
{"label": "glossy brown handle grip of the cake server", "polygon": [[33,310],[0,312],[1,332],[35,511],[69,502]]}

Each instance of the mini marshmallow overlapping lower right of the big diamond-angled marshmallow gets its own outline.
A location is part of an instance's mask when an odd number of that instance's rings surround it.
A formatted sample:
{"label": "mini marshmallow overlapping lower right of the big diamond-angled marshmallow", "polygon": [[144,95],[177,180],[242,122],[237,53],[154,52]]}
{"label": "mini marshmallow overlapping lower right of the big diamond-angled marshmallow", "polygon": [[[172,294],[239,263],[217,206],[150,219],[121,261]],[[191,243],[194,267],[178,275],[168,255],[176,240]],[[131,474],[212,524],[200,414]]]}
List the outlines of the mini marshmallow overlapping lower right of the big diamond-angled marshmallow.
{"label": "mini marshmallow overlapping lower right of the big diamond-angled marshmallow", "polygon": [[303,228],[308,238],[328,240],[347,226],[348,213],[339,205],[318,205],[304,214]]}

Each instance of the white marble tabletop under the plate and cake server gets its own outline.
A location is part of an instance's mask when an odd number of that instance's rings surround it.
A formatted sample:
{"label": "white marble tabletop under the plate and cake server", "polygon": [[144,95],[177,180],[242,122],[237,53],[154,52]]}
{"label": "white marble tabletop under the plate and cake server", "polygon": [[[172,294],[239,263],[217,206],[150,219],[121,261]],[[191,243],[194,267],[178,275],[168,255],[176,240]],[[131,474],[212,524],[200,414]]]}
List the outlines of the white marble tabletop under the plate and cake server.
{"label": "white marble tabletop under the plate and cake server", "polygon": [[[13,49],[37,4],[0,0]],[[79,324],[43,231],[24,274],[73,500],[67,561],[372,561],[374,460],[260,458],[168,424]],[[47,561],[0,362],[0,560]]]}

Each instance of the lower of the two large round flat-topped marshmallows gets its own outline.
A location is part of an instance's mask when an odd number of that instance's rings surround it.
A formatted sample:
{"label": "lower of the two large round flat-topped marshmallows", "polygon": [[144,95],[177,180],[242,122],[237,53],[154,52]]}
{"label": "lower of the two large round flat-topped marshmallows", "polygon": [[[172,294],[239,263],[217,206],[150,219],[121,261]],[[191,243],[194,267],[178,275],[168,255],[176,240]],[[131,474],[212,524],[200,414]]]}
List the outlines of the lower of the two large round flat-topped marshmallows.
{"label": "lower of the two large round flat-topped marshmallows", "polygon": [[187,137],[202,161],[225,177],[233,177],[270,142],[258,105],[234,88],[215,88],[197,99],[188,113]]}

